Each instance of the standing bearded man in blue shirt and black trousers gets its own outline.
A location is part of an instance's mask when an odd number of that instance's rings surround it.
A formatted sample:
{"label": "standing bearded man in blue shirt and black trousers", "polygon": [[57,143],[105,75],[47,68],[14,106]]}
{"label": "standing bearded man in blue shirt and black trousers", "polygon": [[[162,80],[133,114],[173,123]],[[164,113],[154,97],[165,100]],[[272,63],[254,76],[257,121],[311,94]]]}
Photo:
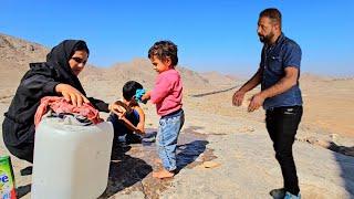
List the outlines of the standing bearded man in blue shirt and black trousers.
{"label": "standing bearded man in blue shirt and black trousers", "polygon": [[301,198],[292,156],[292,145],[302,117],[299,88],[301,49],[282,33],[281,13],[274,8],[260,13],[258,35],[264,44],[259,69],[233,94],[232,104],[240,106],[244,94],[261,84],[261,92],[252,96],[248,111],[253,112],[260,106],[266,109],[267,130],[284,180],[283,188],[270,193],[277,198]]}

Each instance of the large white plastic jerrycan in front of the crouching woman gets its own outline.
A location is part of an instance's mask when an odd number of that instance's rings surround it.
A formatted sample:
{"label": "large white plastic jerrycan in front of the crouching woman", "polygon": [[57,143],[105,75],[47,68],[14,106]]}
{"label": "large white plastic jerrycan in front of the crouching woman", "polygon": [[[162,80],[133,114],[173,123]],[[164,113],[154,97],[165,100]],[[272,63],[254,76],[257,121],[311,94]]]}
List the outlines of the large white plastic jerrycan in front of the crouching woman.
{"label": "large white plastic jerrycan in front of the crouching woman", "polygon": [[107,186],[113,126],[62,121],[43,118],[35,130],[31,198],[97,198]]}

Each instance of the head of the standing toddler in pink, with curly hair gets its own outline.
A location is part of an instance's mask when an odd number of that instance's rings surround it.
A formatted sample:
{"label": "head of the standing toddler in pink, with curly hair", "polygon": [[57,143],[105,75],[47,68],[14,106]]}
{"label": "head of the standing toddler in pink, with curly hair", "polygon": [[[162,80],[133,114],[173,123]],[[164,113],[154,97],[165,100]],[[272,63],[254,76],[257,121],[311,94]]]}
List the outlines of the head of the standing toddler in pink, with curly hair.
{"label": "head of the standing toddler in pink, with curly hair", "polygon": [[148,59],[158,73],[174,69],[178,63],[177,45],[171,41],[158,41],[148,50]]}

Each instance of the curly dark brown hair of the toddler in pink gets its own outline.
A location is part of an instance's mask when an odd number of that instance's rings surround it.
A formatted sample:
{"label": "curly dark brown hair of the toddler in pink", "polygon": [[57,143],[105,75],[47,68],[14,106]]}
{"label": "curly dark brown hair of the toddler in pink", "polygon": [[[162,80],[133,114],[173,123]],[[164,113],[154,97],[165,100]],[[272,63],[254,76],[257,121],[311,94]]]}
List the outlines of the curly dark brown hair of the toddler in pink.
{"label": "curly dark brown hair of the toddler in pink", "polygon": [[158,41],[148,50],[148,59],[155,55],[160,61],[166,61],[169,57],[171,65],[176,66],[178,63],[177,51],[177,45],[171,41]]}

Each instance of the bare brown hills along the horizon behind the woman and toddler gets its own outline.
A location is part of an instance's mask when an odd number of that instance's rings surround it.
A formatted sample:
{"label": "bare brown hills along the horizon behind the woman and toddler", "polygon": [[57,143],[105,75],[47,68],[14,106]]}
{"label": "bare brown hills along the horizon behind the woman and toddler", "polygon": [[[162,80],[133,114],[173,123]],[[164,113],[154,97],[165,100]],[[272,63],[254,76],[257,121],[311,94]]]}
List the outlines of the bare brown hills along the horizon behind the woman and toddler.
{"label": "bare brown hills along the horizon behind the woman and toddler", "polygon": [[[50,49],[39,43],[0,33],[0,69],[6,71],[0,77],[13,82],[9,83],[10,85],[18,84],[21,76],[29,69],[29,63],[45,61],[45,55],[49,51]],[[179,65],[176,69],[180,72],[186,86],[217,87],[220,84],[232,84],[235,82],[232,77],[217,72],[201,74]],[[104,69],[87,64],[80,78],[83,83],[112,80],[117,84],[123,84],[128,80],[136,80],[150,86],[155,76],[156,72],[153,70],[150,62],[147,59],[137,57],[131,62],[117,63]]]}

